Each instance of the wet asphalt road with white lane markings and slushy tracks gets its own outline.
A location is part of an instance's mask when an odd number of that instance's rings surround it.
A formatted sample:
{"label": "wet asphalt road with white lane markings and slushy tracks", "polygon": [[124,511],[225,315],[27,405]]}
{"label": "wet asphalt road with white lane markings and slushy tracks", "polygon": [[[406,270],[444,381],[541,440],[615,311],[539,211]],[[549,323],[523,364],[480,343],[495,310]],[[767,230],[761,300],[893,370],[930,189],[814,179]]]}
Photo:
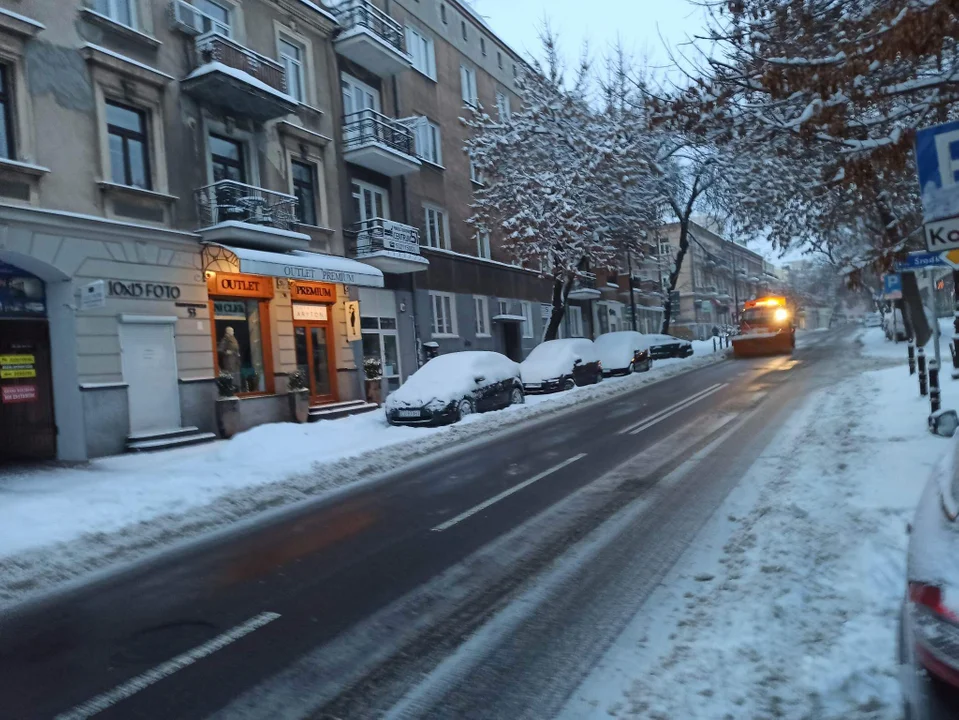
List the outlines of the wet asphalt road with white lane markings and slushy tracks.
{"label": "wet asphalt road with white lane markings and slushy tracks", "polygon": [[0,616],[0,718],[549,717],[835,372],[838,337],[519,426]]}

